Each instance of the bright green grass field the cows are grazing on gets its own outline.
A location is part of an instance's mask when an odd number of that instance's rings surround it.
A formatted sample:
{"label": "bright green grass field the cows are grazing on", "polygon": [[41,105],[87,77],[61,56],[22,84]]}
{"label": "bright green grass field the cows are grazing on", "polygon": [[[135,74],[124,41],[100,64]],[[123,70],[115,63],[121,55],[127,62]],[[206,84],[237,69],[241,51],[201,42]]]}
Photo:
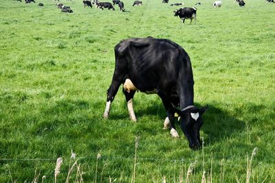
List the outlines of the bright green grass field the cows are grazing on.
{"label": "bright green grass field the cows are grazing on", "polygon": [[[74,13],[62,13],[50,0],[0,1],[0,182],[32,182],[35,175],[54,182],[58,157],[57,182],[65,182],[72,150],[84,182],[131,182],[133,173],[135,182],[164,176],[203,182],[203,170],[208,182],[245,182],[254,147],[250,182],[275,182],[274,3],[246,0],[239,8],[223,0],[212,8],[201,0],[197,23],[183,25],[173,16],[178,7],[170,7],[175,0],[143,0],[138,7],[124,0],[124,13],[117,5],[102,11],[83,8],[80,0],[61,2]],[[134,123],[120,88],[109,119],[102,118],[113,47],[146,36],[173,40],[191,58],[195,103],[209,105],[199,151],[182,132],[173,139],[162,130],[166,112],[157,95],[135,95]]]}

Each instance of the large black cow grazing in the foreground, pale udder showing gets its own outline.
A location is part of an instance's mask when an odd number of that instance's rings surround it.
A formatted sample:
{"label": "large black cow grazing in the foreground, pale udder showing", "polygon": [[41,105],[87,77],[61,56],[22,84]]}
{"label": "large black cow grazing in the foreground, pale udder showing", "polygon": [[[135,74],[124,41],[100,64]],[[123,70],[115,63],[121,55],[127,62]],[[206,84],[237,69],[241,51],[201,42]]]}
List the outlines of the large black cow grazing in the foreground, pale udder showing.
{"label": "large black cow grazing in the foreground, pale udder showing", "polygon": [[[192,66],[183,48],[171,40],[157,38],[129,38],[115,45],[115,71],[107,90],[104,118],[109,117],[111,102],[123,83],[122,90],[131,120],[136,121],[133,112],[135,91],[156,93],[162,99],[168,117],[164,127],[170,124],[170,134],[179,137],[174,120],[177,112],[189,147],[201,147],[199,130],[203,124],[201,115],[206,107],[199,109],[194,106]],[[129,84],[132,86],[127,88]]]}

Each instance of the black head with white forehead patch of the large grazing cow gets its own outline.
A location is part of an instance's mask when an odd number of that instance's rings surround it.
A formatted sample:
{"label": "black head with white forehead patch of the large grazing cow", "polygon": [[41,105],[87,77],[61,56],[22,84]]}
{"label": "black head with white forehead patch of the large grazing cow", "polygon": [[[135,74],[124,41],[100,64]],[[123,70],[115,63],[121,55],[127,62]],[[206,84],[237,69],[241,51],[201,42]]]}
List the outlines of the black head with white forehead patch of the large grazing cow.
{"label": "black head with white forehead patch of the large grazing cow", "polygon": [[184,132],[191,149],[199,149],[199,147],[201,147],[201,139],[199,136],[199,130],[203,125],[201,116],[207,108],[207,106],[201,109],[196,108],[195,106],[188,106],[184,108],[184,110],[181,110],[179,114],[181,130]]}

